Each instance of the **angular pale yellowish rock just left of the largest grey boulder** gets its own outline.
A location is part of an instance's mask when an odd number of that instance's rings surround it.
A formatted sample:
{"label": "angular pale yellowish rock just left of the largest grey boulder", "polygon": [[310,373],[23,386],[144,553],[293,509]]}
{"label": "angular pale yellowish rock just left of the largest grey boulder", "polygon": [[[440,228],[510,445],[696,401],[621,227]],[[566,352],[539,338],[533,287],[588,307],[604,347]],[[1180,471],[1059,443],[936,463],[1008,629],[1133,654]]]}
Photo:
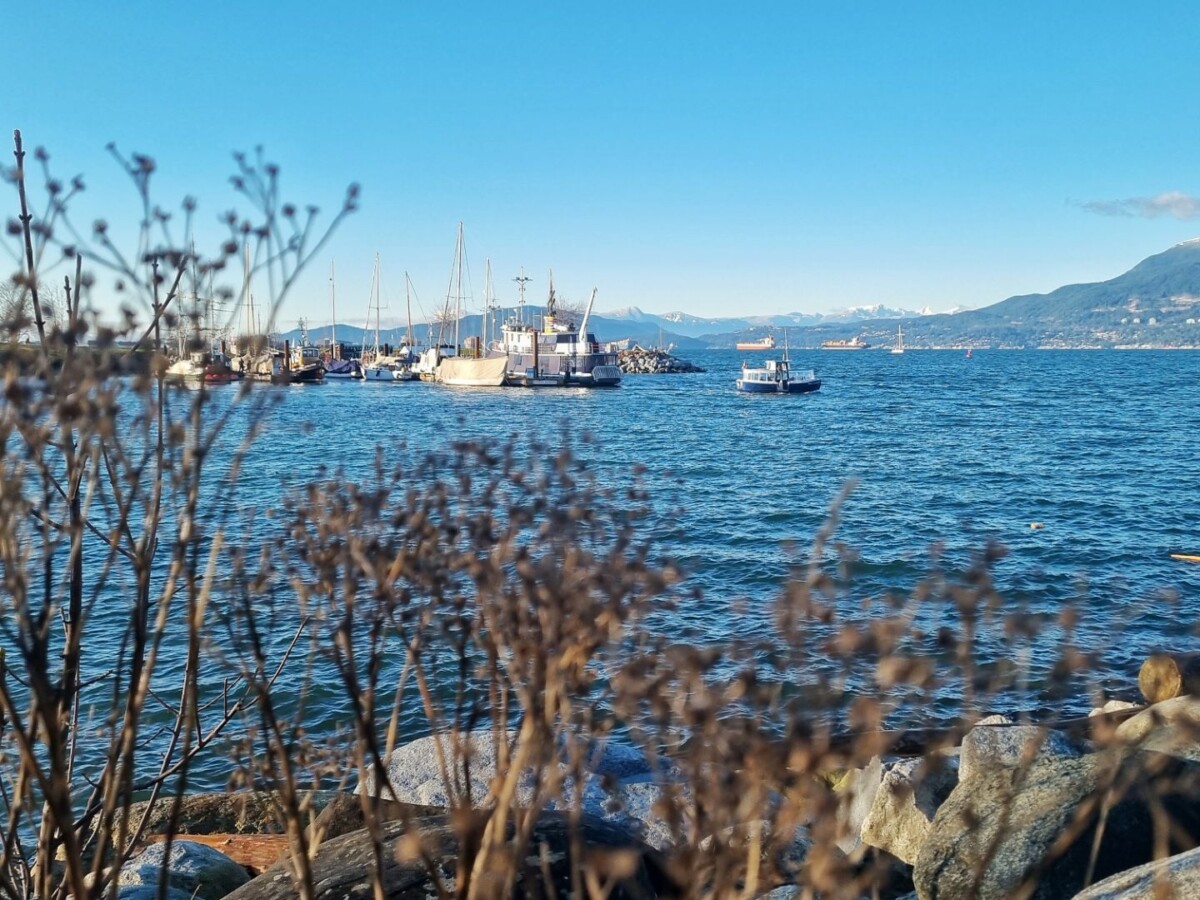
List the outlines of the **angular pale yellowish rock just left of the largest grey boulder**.
{"label": "angular pale yellowish rock just left of the largest grey boulder", "polygon": [[914,865],[937,808],[958,785],[958,758],[942,756],[888,769],[863,820],[863,842]]}

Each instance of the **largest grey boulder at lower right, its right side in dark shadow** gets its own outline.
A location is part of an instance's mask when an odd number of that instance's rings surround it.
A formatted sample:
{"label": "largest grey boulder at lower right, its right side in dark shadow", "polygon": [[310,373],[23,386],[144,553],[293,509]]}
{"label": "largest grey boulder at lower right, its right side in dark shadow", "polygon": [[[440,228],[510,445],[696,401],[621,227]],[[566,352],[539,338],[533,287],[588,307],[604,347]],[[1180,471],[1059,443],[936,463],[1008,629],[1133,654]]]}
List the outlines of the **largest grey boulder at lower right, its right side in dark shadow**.
{"label": "largest grey boulder at lower right, its right side in dark shadow", "polygon": [[[1040,756],[1027,769],[980,770],[960,780],[934,816],[913,872],[917,892],[923,900],[1001,900],[1026,888],[1020,895],[1034,900],[1072,896],[1085,887],[1093,844],[1093,878],[1150,862],[1156,836],[1177,850],[1194,846],[1198,788],[1200,764],[1162,754]],[[1171,821],[1169,836],[1156,835],[1159,810]]]}

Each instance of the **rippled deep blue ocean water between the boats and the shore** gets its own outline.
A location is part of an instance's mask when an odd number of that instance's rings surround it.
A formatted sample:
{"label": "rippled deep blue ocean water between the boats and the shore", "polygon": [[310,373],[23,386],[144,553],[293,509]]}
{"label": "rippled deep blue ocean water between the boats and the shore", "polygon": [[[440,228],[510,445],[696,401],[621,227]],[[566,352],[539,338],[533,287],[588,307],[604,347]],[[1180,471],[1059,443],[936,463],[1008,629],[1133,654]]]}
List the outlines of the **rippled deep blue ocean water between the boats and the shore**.
{"label": "rippled deep blue ocean water between the boats and the shore", "polygon": [[[643,467],[646,536],[685,572],[686,599],[666,628],[712,642],[769,635],[772,601],[851,486],[835,532],[854,553],[839,600],[850,617],[911,594],[935,560],[954,577],[998,542],[1004,608],[1054,618],[1075,605],[1099,688],[1133,697],[1147,652],[1195,646],[1200,565],[1169,554],[1200,552],[1200,354],[796,352],[793,368],[823,382],[797,396],[737,392],[755,354],[682,355],[707,372],[596,391],[263,388],[277,402],[246,458],[240,502],[269,510],[334,469],[367,482],[377,451],[392,464],[456,438],[558,446],[588,434],[571,443],[601,485]],[[1034,652],[1050,660],[1055,649]],[[1006,656],[1003,634],[980,652]],[[284,673],[276,691],[286,698],[295,684]],[[944,700],[929,718],[956,708]],[[1034,685],[1009,702],[1048,701]],[[1091,697],[1055,702],[1086,712]],[[340,721],[346,701],[318,691],[311,710],[317,724]],[[220,780],[220,767],[209,775]]]}

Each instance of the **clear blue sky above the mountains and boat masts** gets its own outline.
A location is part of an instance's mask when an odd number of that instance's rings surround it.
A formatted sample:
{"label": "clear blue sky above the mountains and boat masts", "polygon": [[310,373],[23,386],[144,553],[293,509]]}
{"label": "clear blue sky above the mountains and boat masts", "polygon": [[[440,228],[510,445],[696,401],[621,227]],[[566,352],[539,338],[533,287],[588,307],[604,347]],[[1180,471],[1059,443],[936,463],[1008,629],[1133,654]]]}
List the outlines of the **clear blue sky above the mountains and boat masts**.
{"label": "clear blue sky above the mountains and boat masts", "polygon": [[[5,22],[0,124],[124,221],[113,140],[163,205],[234,203],[263,145],[286,194],[361,210],[281,312],[361,323],[380,253],[445,295],[464,222],[571,300],[706,316],[946,310],[1098,281],[1200,234],[1194,6],[1117,2],[112,4]],[[7,133],[7,132],[6,132]],[[1176,192],[1174,198],[1160,198]],[[7,214],[6,214],[7,216]],[[202,232],[202,242],[205,236]]]}

